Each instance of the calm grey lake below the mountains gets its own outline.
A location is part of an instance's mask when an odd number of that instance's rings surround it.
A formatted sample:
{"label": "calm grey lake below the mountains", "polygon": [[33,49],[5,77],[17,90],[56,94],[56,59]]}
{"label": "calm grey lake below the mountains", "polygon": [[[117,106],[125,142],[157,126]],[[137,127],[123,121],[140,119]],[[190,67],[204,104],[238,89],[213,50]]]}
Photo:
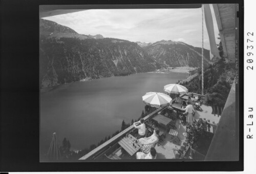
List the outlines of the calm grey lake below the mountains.
{"label": "calm grey lake below the mountains", "polygon": [[164,85],[187,77],[187,73],[141,73],[73,82],[41,92],[41,152],[47,153],[54,132],[58,145],[66,137],[73,150],[97,145],[121,129],[122,120],[131,123],[140,117],[144,94],[164,92]]}

